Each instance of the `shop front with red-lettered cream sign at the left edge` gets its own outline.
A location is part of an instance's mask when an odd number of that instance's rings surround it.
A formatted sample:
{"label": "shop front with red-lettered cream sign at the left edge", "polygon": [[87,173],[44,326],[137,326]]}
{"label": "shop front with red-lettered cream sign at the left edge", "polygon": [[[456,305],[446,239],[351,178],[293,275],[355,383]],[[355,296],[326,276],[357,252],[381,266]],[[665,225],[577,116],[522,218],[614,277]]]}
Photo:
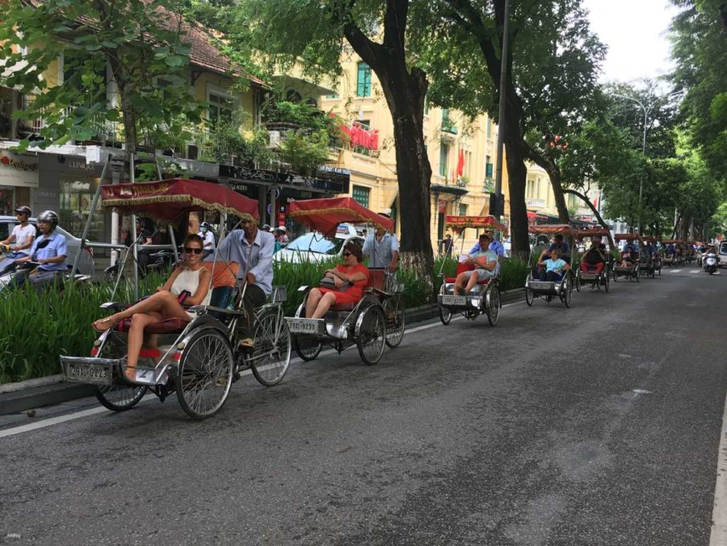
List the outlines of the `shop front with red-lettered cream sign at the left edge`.
{"label": "shop front with red-lettered cream sign at the left edge", "polygon": [[15,216],[18,206],[32,208],[31,191],[38,188],[38,169],[36,156],[0,151],[0,216]]}

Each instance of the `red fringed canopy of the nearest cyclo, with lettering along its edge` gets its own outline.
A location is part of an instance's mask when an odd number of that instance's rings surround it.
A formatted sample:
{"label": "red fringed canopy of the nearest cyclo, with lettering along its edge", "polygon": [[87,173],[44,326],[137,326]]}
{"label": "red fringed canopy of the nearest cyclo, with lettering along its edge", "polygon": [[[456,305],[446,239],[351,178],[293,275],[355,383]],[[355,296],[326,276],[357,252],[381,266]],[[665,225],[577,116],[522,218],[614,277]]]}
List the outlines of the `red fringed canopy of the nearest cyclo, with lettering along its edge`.
{"label": "red fringed canopy of the nearest cyclo, with lettering along its edge", "polygon": [[201,210],[249,220],[260,217],[254,199],[220,184],[183,178],[104,185],[101,200],[103,206],[115,206],[121,212],[143,214],[163,222],[174,222],[185,212]]}

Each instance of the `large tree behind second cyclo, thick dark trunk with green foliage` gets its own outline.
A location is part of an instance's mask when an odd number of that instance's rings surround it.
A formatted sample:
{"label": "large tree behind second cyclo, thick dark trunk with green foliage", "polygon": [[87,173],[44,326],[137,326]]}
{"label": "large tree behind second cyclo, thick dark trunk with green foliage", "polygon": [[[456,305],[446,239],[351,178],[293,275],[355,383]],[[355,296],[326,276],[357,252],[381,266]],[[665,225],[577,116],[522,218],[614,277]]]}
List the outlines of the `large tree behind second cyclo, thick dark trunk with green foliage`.
{"label": "large tree behind second cyclo, thick dark trunk with green foliage", "polygon": [[[432,278],[430,178],[423,132],[427,76],[408,55],[407,0],[241,0],[236,40],[278,65],[302,61],[307,73],[340,73],[345,42],[376,73],[394,128],[401,198],[401,262]],[[379,24],[382,23],[379,32]],[[243,32],[246,31],[246,32]]]}

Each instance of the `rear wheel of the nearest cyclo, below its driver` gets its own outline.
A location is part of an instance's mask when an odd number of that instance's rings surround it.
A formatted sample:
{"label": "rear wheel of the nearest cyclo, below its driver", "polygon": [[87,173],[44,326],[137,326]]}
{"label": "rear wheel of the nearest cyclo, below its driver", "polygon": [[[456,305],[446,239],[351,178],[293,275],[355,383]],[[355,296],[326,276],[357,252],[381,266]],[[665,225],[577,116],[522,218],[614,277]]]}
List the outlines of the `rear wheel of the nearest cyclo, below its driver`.
{"label": "rear wheel of the nearest cyclo, below its driver", "polygon": [[272,387],[283,379],[290,366],[288,323],[281,318],[278,324],[278,313],[268,311],[255,321],[253,332],[255,348],[250,358],[250,369],[262,385]]}

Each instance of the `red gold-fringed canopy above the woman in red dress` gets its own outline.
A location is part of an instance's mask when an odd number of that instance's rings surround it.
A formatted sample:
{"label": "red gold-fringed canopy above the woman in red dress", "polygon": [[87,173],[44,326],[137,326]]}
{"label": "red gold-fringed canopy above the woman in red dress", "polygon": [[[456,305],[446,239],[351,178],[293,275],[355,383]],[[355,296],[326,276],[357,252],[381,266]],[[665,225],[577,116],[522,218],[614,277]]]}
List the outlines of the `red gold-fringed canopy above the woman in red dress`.
{"label": "red gold-fringed canopy above the woman in red dress", "polygon": [[338,225],[343,222],[373,224],[377,228],[386,230],[394,228],[394,221],[391,218],[371,212],[353,197],[293,201],[288,214],[309,228],[320,231],[326,237],[335,236]]}

